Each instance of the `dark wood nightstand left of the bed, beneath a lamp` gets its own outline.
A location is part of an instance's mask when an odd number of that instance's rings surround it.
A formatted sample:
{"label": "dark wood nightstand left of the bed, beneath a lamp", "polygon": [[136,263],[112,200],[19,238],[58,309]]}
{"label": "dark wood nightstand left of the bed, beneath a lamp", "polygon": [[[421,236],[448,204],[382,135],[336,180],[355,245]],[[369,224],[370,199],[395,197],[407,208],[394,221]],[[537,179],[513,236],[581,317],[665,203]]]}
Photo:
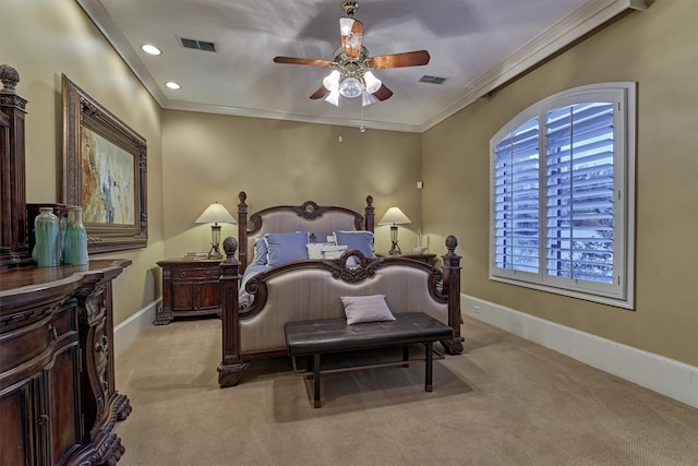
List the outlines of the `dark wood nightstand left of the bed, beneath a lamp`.
{"label": "dark wood nightstand left of the bed, beneath a lamp", "polygon": [[155,325],[167,325],[176,318],[220,316],[220,259],[168,259],[163,268],[163,309]]}

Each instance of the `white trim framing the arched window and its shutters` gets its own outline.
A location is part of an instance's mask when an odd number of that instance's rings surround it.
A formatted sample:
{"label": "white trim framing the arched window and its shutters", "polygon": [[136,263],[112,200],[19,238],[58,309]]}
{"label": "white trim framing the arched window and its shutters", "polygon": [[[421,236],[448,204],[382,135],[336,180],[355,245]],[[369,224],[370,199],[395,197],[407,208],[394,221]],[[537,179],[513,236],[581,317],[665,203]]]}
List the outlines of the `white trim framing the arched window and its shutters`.
{"label": "white trim framing the arched window and its shutters", "polygon": [[[520,124],[539,117],[540,122],[545,121],[545,115],[549,110],[573,105],[579,101],[595,101],[595,99],[604,96],[606,101],[611,96],[617,101],[619,108],[616,108],[614,115],[614,127],[621,124],[623,128],[622,136],[614,138],[614,187],[616,200],[614,203],[614,270],[621,268],[615,274],[615,280],[619,280],[611,289],[604,289],[603,286],[594,286],[593,283],[578,282],[575,287],[568,287],[567,284],[557,283],[554,277],[546,276],[544,267],[539,267],[538,274],[501,268],[495,266],[495,158],[496,146],[504,136],[517,129]],[[636,179],[636,83],[633,82],[610,82],[601,84],[592,84],[581,87],[567,89],[552,95],[543,100],[535,103],[529,108],[521,111],[507,122],[497,133],[490,140],[490,273],[491,280],[507,283],[512,285],[524,286],[541,291],[553,292],[557,295],[569,296],[574,298],[585,299],[589,301],[600,302],[614,307],[635,309],[635,179]],[[539,127],[540,128],[540,127]],[[544,188],[544,133],[540,134],[541,141],[541,190]],[[541,213],[544,212],[544,196],[540,196]],[[541,224],[544,224],[541,217]],[[619,225],[618,225],[619,224]],[[545,243],[544,231],[541,227],[542,235],[540,237],[541,248]],[[541,255],[544,258],[544,254]],[[541,261],[544,265],[544,259]],[[589,286],[587,286],[589,285]],[[606,285],[607,286],[607,285]]]}

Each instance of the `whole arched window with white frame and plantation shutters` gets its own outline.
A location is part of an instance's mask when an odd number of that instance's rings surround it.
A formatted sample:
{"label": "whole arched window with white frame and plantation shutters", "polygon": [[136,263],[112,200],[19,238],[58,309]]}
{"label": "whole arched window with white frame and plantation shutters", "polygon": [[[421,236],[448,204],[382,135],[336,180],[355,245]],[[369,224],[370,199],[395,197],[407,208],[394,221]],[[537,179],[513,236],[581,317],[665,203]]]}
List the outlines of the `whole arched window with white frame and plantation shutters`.
{"label": "whole arched window with white frame and plantation shutters", "polygon": [[635,94],[568,89],[490,140],[491,279],[633,309]]}

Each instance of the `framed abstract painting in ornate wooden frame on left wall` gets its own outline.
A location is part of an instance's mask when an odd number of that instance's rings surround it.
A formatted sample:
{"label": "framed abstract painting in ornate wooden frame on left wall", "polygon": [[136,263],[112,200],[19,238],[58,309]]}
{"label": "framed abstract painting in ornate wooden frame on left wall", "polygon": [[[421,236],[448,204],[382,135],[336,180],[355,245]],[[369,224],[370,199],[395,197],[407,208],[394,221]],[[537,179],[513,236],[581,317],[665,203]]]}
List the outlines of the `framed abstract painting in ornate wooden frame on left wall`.
{"label": "framed abstract painting in ornate wooden frame on left wall", "polygon": [[89,253],[145,248],[145,139],[62,75],[63,203],[83,207]]}

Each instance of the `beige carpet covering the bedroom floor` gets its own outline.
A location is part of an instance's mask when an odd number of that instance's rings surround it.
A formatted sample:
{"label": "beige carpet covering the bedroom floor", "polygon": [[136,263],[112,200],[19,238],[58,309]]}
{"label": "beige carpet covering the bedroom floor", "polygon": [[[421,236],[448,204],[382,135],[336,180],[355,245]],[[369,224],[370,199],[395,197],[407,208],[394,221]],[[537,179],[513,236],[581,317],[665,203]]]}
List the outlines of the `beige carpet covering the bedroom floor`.
{"label": "beige carpet covering the bedroom floor", "polygon": [[220,321],[152,327],[117,358],[119,465],[698,465],[698,409],[466,319],[467,351],[323,377],[287,358],[219,389]]}

